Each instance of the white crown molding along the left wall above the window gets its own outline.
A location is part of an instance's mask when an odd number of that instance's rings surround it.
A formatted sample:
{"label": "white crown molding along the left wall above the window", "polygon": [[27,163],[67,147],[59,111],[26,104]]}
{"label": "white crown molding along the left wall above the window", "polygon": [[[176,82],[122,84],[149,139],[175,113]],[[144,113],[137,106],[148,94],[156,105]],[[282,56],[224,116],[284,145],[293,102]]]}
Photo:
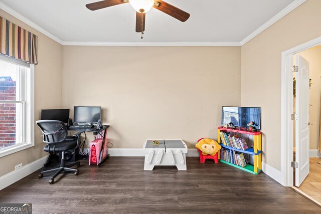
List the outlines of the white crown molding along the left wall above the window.
{"label": "white crown molding along the left wall above the window", "polygon": [[39,31],[40,33],[46,35],[47,37],[49,37],[50,39],[56,41],[57,43],[61,44],[63,43],[63,41],[61,39],[59,39],[58,37],[56,37],[55,35],[49,33],[47,30],[43,29],[42,27],[40,27],[39,25],[37,25],[36,23],[34,23],[33,21],[27,19],[25,16],[23,16],[22,14],[18,13],[17,11],[15,11],[14,9],[8,7],[7,5],[5,5],[4,3],[0,2],[0,9],[7,12],[8,14],[12,15],[13,17],[19,19],[20,21],[26,23],[27,25],[29,25],[30,27],[34,28],[35,30]]}

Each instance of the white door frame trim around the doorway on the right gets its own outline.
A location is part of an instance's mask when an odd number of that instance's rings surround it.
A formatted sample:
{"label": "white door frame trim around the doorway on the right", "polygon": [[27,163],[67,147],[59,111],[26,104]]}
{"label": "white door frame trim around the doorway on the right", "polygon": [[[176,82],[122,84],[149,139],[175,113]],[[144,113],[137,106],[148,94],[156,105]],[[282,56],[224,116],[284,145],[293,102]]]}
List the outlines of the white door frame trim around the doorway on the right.
{"label": "white door frame trim around the doorway on the right", "polygon": [[293,186],[293,55],[321,45],[321,37],[310,40],[281,54],[281,180],[284,186]]}

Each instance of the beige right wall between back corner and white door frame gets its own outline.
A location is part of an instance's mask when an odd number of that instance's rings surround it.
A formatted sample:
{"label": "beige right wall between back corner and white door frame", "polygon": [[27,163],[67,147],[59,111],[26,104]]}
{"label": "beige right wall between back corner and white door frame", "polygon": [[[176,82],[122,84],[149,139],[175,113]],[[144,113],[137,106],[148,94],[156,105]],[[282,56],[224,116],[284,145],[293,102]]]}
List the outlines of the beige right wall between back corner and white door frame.
{"label": "beige right wall between back corner and white door frame", "polygon": [[321,1],[307,0],[241,48],[241,102],[262,107],[263,161],[278,170],[281,52],[321,36],[320,9]]}

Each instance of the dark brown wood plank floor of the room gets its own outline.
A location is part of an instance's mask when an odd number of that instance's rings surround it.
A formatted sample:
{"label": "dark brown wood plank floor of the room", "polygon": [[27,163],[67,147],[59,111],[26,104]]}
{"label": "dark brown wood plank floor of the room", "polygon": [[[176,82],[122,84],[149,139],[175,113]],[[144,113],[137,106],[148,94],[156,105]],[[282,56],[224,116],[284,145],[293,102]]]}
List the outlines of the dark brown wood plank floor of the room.
{"label": "dark brown wood plank floor of the room", "polygon": [[264,173],[187,158],[176,167],[143,170],[143,157],[110,157],[97,168],[54,184],[39,172],[0,191],[0,202],[33,203],[33,213],[321,213],[321,208]]}

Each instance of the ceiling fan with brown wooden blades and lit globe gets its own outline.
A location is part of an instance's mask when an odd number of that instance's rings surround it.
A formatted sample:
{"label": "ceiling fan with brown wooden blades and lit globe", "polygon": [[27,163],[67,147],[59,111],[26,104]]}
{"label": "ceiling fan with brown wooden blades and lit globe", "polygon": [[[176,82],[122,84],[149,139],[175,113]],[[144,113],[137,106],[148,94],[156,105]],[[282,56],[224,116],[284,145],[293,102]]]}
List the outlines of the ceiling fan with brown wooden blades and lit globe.
{"label": "ceiling fan with brown wooden blades and lit globe", "polygon": [[180,20],[181,22],[185,22],[190,17],[189,13],[186,13],[185,11],[182,11],[181,9],[178,9],[162,0],[104,0],[87,4],[86,8],[91,11],[96,11],[124,3],[129,3],[136,11],[136,32],[141,33],[141,39],[144,34],[143,32],[145,31],[145,13],[152,7]]}

